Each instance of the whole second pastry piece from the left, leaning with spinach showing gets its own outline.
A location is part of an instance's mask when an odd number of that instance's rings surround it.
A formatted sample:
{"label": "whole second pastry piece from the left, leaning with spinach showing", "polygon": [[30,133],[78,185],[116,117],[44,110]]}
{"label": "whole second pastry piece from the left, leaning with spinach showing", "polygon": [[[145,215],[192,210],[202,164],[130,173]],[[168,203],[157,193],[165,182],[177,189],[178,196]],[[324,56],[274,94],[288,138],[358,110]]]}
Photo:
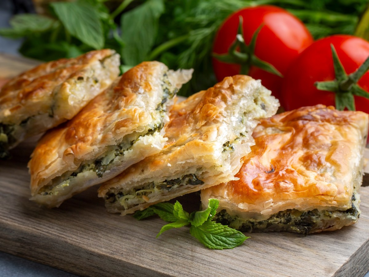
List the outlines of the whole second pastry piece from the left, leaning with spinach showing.
{"label": "whole second pastry piece from the left, leaning with spinach showing", "polygon": [[158,153],[167,106],[192,70],[143,62],[125,72],[72,120],[41,138],[28,163],[32,200],[49,207]]}

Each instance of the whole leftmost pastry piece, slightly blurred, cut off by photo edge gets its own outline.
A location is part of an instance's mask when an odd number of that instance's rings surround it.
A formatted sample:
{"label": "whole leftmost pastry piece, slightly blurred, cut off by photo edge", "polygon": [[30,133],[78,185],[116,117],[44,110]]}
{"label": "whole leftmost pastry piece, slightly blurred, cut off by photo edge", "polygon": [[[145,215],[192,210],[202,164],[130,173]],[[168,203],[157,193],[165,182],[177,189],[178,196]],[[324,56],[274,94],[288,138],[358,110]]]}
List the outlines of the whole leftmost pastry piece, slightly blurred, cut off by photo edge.
{"label": "whole leftmost pastry piece, slightly blurred, cut off by photo edge", "polygon": [[0,158],[24,138],[75,116],[119,74],[119,55],[104,49],[47,62],[0,90]]}

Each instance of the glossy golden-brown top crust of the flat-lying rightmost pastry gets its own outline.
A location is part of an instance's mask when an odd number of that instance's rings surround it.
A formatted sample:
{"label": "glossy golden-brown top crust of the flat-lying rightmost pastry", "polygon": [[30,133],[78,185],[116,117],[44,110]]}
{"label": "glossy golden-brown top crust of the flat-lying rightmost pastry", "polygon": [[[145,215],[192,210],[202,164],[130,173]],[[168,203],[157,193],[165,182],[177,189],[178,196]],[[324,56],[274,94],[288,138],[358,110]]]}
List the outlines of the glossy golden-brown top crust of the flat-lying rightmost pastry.
{"label": "glossy golden-brown top crust of the flat-lying rightmost pastry", "polygon": [[[351,208],[368,114],[317,105],[262,119],[239,178],[202,192],[231,213]],[[358,172],[356,172],[358,171]],[[360,185],[360,184],[359,184]]]}

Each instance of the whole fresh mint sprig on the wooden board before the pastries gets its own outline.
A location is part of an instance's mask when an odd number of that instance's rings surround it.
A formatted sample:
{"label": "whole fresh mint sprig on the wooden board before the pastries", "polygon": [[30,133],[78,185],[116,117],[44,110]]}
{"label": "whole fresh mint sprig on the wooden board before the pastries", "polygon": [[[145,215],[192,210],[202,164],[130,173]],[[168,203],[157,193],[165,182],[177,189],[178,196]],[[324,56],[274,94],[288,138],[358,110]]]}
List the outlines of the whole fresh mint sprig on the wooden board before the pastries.
{"label": "whole fresh mint sprig on the wooden board before the pastries", "polygon": [[209,199],[207,209],[189,214],[183,210],[182,205],[178,201],[175,204],[159,203],[143,211],[135,212],[133,217],[141,220],[156,214],[161,219],[170,222],[161,228],[156,238],[167,230],[191,225],[190,234],[206,247],[221,250],[233,249],[241,245],[249,237],[235,229],[212,221],[218,206],[218,199]]}

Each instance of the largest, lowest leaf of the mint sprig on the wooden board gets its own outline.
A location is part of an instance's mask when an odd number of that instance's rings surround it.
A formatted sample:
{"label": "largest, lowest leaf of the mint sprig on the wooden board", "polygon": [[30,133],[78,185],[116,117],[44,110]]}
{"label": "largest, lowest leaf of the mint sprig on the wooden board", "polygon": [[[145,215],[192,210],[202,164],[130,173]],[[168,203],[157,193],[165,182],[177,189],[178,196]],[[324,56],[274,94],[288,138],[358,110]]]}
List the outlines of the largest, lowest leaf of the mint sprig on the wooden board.
{"label": "largest, lowest leaf of the mint sprig on the wooden board", "polygon": [[221,250],[233,249],[249,238],[235,229],[213,221],[205,221],[197,227],[192,225],[190,233],[206,247]]}

